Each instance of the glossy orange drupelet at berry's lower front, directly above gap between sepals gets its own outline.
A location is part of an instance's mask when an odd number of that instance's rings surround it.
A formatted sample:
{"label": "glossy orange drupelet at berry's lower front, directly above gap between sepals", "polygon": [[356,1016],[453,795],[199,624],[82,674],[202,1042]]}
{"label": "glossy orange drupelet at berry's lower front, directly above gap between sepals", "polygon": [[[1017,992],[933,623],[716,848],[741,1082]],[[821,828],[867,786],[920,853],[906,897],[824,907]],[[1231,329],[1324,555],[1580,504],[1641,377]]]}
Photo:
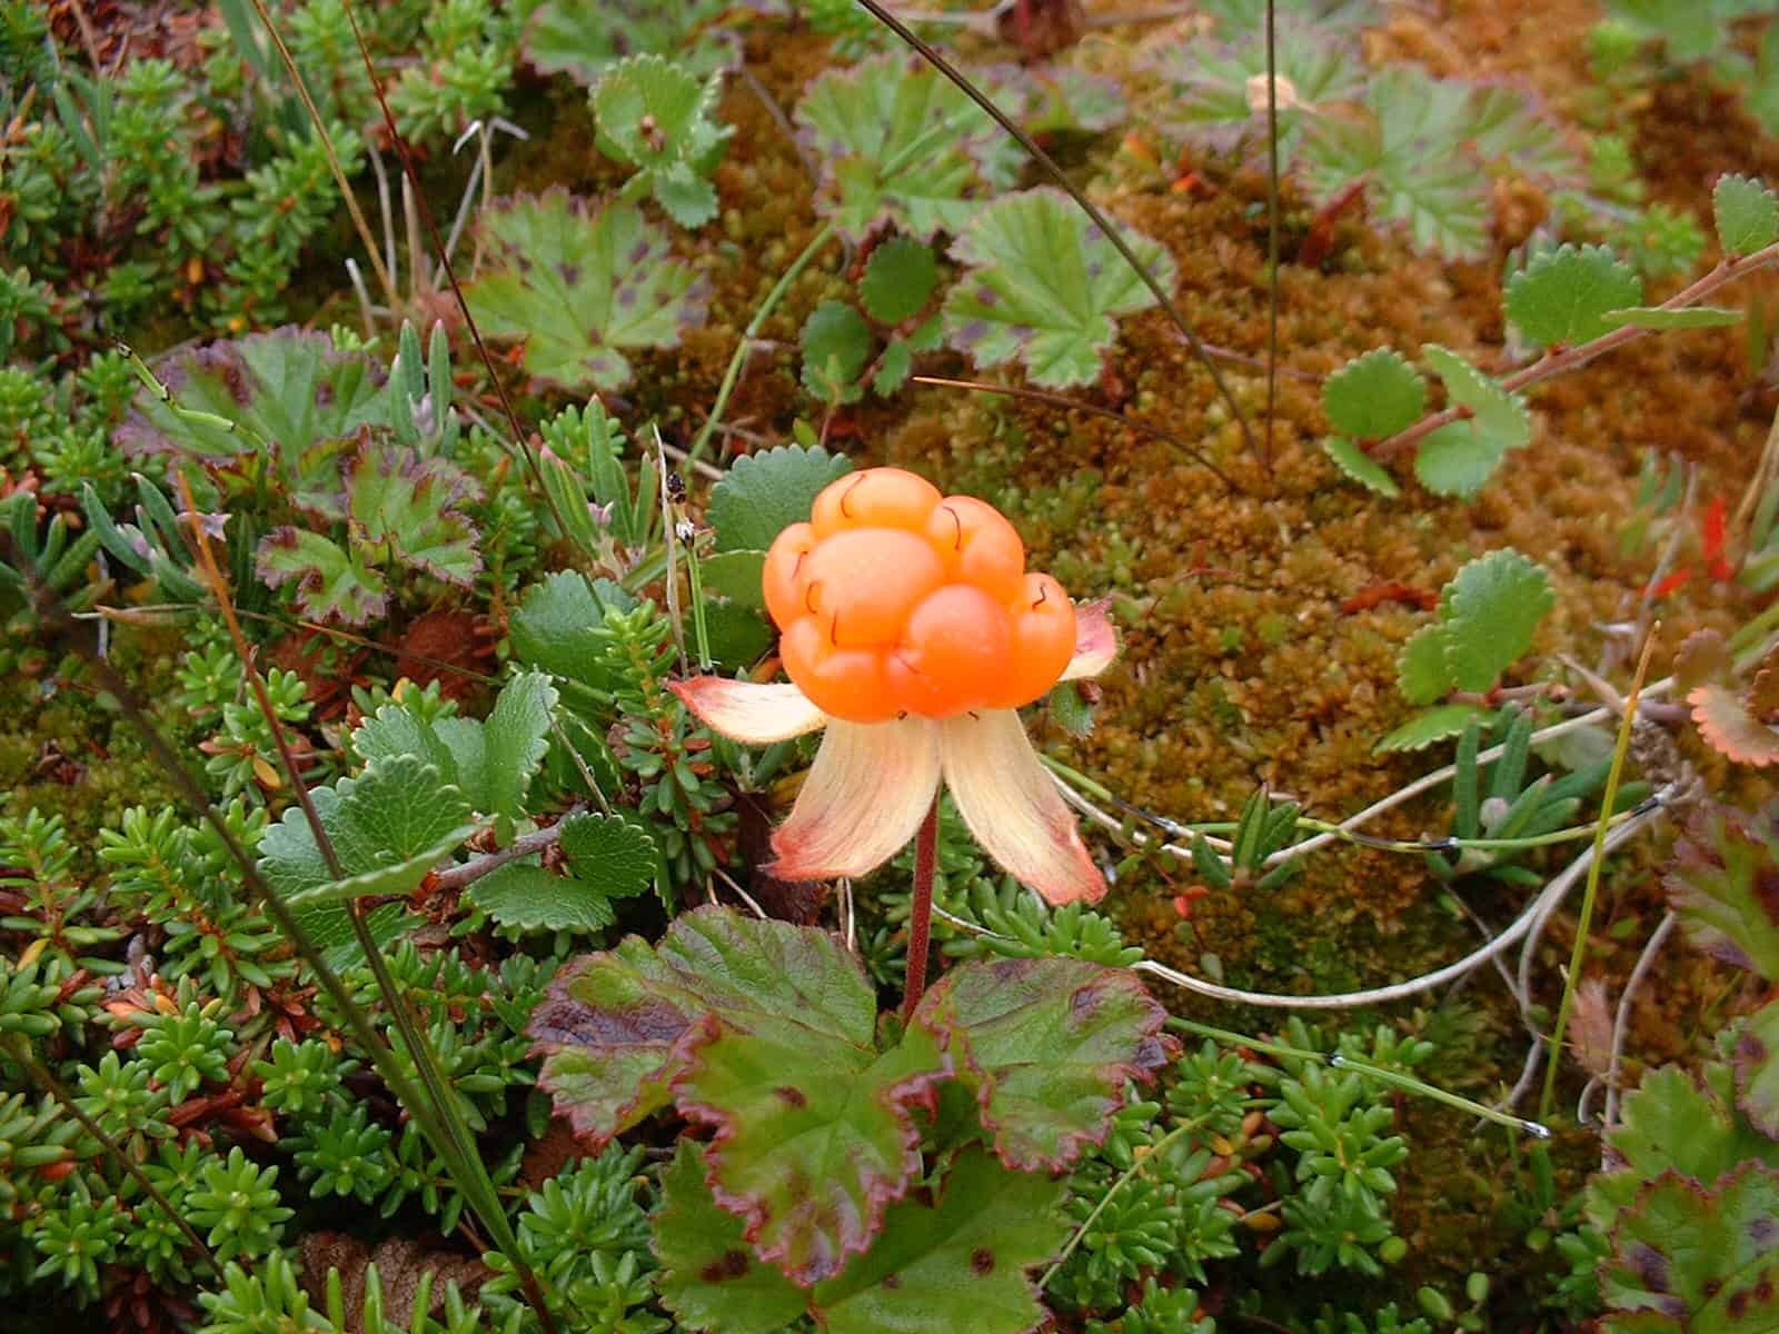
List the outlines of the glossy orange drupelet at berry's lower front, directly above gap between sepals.
{"label": "glossy orange drupelet at berry's lower front, directly above gap between sepals", "polygon": [[948,719],[987,703],[1010,651],[1007,608],[970,583],[946,583],[907,617],[884,683],[909,713]]}

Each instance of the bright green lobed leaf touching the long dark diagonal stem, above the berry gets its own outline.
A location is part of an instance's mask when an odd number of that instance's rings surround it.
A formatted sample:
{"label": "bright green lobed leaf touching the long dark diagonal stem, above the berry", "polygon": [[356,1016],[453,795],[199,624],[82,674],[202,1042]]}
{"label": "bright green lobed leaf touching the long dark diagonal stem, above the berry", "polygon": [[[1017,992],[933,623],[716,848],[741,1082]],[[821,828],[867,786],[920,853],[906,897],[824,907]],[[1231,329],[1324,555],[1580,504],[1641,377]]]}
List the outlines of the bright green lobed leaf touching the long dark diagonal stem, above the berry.
{"label": "bright green lobed leaf touching the long dark diagonal stem, above the berry", "polygon": [[[1130,231],[1126,240],[1162,286],[1172,288],[1167,251]],[[1117,336],[1112,317],[1155,304],[1112,242],[1066,194],[1048,187],[984,208],[952,256],[970,272],[945,299],[950,345],[978,366],[1018,359],[1034,384],[1091,384]]]}

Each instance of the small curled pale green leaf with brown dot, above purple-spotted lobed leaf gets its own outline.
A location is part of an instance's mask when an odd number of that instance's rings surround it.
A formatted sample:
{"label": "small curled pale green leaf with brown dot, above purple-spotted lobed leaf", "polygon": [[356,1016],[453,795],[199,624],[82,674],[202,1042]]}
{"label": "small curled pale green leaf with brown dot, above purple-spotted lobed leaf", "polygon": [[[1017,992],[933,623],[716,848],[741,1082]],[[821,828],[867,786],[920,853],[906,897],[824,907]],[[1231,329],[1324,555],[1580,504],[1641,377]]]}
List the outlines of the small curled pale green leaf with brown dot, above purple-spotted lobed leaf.
{"label": "small curled pale green leaf with brown dot, above purple-spotted lobed leaf", "polygon": [[733,133],[719,125],[717,78],[699,80],[658,55],[632,55],[607,69],[592,89],[600,151],[637,167],[632,181],[681,228],[717,215],[708,176]]}

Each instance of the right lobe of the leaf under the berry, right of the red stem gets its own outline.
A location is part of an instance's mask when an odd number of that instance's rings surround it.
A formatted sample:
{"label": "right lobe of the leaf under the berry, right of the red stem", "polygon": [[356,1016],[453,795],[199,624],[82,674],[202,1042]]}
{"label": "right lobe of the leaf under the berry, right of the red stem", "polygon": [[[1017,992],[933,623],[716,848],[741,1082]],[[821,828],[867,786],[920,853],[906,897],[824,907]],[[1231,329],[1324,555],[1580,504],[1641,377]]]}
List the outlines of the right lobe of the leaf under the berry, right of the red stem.
{"label": "right lobe of the leaf under the berry, right of the red stem", "polygon": [[957,968],[911,1026],[946,1048],[1009,1169],[1059,1172],[1167,1064],[1165,1017],[1135,973],[1053,957]]}

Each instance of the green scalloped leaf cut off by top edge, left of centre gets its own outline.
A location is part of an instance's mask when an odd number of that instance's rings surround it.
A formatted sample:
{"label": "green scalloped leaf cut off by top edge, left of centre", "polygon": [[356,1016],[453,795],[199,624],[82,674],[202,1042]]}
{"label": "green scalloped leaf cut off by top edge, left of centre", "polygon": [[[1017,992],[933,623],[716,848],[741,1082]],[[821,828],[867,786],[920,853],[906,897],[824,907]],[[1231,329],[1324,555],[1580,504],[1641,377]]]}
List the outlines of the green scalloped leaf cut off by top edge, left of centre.
{"label": "green scalloped leaf cut off by top edge, left of centre", "polygon": [[626,55],[667,55],[703,78],[740,64],[733,37],[715,23],[731,0],[543,0],[525,25],[525,59],[541,73],[592,84]]}

